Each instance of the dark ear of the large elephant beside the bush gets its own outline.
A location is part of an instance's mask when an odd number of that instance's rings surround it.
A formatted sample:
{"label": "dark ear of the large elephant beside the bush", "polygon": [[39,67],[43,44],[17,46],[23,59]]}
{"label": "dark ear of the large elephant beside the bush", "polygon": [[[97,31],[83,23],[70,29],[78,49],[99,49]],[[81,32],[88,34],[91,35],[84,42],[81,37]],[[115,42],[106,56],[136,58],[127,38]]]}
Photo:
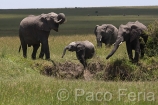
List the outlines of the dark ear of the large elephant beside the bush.
{"label": "dark ear of the large elephant beside the bush", "polygon": [[140,32],[139,28],[136,25],[131,26],[131,32],[130,32],[130,42],[133,40],[139,38]]}

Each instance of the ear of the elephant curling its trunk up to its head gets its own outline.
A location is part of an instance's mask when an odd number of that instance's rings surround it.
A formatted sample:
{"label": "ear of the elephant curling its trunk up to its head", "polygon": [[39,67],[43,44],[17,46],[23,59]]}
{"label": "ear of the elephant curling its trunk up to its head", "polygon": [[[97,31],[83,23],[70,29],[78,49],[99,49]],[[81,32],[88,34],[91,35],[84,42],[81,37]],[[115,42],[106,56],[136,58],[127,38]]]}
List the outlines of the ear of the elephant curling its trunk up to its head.
{"label": "ear of the elephant curling its trunk up to its head", "polygon": [[38,27],[40,30],[44,30],[44,31],[50,31],[51,28],[49,26],[49,23],[48,23],[48,16],[47,14],[41,14],[39,16],[39,24],[38,24]]}

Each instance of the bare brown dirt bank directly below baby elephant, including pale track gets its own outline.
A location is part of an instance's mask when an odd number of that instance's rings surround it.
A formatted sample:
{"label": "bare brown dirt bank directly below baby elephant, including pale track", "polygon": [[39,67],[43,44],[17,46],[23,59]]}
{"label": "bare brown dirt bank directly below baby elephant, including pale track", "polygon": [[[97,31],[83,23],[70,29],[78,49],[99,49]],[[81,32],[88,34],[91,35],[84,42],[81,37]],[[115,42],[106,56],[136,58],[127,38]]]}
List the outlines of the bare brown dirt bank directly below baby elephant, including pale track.
{"label": "bare brown dirt bank directly below baby elephant, including pale track", "polygon": [[[40,64],[36,64],[40,65]],[[43,65],[41,67],[41,74],[47,76],[54,76],[58,78],[79,79],[85,78],[87,80],[93,79],[97,73],[102,72],[105,65],[95,62],[89,63],[87,69],[84,69],[80,63],[73,63],[67,61],[65,63],[56,63],[56,65]]]}

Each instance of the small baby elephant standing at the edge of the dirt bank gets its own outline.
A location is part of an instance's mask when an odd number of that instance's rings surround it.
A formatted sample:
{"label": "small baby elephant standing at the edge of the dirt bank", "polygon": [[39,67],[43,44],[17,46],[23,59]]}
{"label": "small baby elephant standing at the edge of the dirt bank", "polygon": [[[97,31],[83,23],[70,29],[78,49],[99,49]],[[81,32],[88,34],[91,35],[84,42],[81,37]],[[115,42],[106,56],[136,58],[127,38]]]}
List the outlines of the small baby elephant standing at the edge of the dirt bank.
{"label": "small baby elephant standing at the edge of the dirt bank", "polygon": [[76,57],[82,63],[84,68],[87,67],[87,59],[93,57],[95,53],[94,45],[89,41],[76,41],[71,42],[68,46],[64,48],[62,58],[64,57],[66,50],[76,51]]}

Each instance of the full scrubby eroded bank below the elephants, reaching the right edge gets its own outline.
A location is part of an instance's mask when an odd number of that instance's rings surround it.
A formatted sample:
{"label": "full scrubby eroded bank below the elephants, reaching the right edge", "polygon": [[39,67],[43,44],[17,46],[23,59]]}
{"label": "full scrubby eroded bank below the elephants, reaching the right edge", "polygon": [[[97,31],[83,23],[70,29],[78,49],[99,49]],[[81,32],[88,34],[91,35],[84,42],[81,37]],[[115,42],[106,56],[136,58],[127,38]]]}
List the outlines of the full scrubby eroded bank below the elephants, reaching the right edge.
{"label": "full scrubby eroded bank below the elephants, reaching the right edge", "polygon": [[[80,63],[67,61],[64,63],[36,62],[33,69],[39,70],[42,75],[62,79],[86,79],[86,80],[144,80],[148,75],[153,75],[152,70],[145,70],[146,66],[134,65],[124,59],[112,62],[90,62],[87,69]],[[149,67],[148,67],[149,68]],[[155,68],[154,68],[155,69]],[[152,78],[151,78],[152,79]]]}

